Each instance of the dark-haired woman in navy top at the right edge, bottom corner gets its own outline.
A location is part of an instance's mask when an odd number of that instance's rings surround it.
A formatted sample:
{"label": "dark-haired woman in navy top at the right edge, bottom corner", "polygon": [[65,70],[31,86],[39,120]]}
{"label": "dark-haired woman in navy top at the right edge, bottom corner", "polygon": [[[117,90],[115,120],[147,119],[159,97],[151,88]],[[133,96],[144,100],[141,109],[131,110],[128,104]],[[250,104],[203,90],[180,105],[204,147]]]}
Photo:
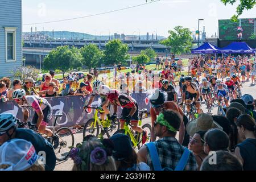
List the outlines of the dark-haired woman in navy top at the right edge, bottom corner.
{"label": "dark-haired woman in navy top at the right edge, bottom corner", "polygon": [[245,139],[237,144],[234,154],[245,171],[256,171],[256,123],[249,114],[242,114],[236,121],[238,134]]}

